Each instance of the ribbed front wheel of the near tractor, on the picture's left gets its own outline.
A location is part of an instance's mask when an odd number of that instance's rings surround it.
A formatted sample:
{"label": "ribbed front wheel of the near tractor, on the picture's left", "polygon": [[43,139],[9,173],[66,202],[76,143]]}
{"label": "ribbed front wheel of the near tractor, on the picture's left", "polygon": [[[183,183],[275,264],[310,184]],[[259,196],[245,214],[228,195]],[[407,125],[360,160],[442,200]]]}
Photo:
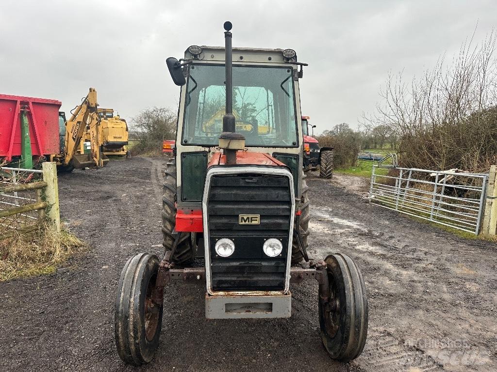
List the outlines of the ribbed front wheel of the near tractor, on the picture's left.
{"label": "ribbed front wheel of the near tractor, on the picture's left", "polygon": [[124,363],[149,363],[159,345],[163,306],[152,301],[159,258],[139,253],[126,262],[119,279],[114,332],[117,352]]}

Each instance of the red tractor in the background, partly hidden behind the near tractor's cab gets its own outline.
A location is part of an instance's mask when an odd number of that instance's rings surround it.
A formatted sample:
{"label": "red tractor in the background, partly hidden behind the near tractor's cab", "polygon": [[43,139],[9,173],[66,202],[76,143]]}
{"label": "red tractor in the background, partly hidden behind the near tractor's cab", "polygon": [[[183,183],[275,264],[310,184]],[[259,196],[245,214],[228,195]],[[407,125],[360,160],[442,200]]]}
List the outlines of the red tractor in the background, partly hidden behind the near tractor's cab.
{"label": "red tractor in the background, partly hidden behind the near tractor's cab", "polygon": [[[314,138],[316,125],[309,123],[308,116],[302,116],[302,134],[304,137],[304,156],[302,165],[304,172],[319,170],[320,177],[331,178],[333,176],[333,147],[319,147],[318,140]],[[312,136],[309,135],[309,126],[312,128]]]}

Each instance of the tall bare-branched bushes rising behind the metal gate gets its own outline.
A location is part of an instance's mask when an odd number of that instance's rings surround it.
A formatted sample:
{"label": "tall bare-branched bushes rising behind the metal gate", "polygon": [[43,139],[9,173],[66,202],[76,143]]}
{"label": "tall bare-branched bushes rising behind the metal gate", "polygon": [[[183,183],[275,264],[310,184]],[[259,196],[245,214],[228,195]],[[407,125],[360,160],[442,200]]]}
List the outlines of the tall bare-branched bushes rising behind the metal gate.
{"label": "tall bare-branched bushes rising behind the metal gate", "polygon": [[480,44],[462,44],[447,62],[440,57],[421,78],[389,74],[370,130],[386,126],[399,139],[408,167],[485,171],[497,162],[496,32]]}

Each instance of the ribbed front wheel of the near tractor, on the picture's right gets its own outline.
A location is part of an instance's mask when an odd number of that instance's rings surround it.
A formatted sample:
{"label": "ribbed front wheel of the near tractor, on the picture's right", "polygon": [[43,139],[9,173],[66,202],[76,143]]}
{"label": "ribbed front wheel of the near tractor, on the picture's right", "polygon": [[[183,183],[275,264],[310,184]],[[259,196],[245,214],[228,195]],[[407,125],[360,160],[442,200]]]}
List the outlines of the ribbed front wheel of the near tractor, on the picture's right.
{"label": "ribbed front wheel of the near tractor, on the picture's right", "polygon": [[[361,271],[349,256],[331,254],[326,257],[325,262],[329,291],[320,293],[321,336],[332,359],[349,362],[362,353],[366,343],[366,288]],[[323,297],[328,298],[328,301],[323,301]]]}

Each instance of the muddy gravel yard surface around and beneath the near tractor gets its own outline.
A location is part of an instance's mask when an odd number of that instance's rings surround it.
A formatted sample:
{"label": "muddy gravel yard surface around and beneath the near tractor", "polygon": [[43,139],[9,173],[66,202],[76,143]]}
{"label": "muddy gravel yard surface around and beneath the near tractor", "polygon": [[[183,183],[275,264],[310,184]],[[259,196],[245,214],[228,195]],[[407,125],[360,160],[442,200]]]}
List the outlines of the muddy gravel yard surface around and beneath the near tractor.
{"label": "muddy gravel yard surface around and beneath the near tractor", "polygon": [[[135,371],[114,346],[126,259],[161,251],[164,160],[111,161],[59,177],[61,214],[89,251],[50,276],[0,283],[0,371]],[[206,320],[204,288],[166,290],[161,344],[140,371],[495,371],[497,245],[369,205],[367,180],[308,178],[310,255],[362,269],[369,333],[350,364],[320,339],[317,284],[295,285],[292,317]]]}

